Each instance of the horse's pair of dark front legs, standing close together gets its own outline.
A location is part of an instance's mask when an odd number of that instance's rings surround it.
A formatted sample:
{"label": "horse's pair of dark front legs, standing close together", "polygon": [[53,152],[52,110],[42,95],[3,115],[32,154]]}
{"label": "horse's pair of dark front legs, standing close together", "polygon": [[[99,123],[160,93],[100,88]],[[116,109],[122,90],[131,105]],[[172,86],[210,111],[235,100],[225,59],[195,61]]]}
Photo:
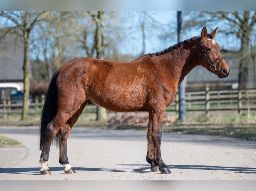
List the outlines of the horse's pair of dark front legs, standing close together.
{"label": "horse's pair of dark front legs, standing close together", "polygon": [[162,121],[163,121],[164,110],[162,112],[149,112],[149,123],[148,123],[148,151],[147,151],[147,162],[151,164],[150,169],[153,172],[161,172],[169,174],[171,171],[164,164],[161,157],[161,137],[162,137]]}

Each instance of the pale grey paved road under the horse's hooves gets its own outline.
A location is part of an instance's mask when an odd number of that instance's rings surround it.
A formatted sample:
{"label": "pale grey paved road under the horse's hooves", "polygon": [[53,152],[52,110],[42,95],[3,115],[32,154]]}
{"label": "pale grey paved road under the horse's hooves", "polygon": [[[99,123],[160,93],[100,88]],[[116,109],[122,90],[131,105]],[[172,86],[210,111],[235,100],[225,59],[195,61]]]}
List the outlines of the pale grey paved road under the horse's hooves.
{"label": "pale grey paved road under the horse's hooves", "polygon": [[256,141],[163,133],[162,158],[171,174],[146,162],[146,131],[72,129],[68,156],[76,174],[65,174],[51,147],[50,176],[39,173],[37,127],[1,126],[24,147],[0,148],[0,180],[256,180]]}

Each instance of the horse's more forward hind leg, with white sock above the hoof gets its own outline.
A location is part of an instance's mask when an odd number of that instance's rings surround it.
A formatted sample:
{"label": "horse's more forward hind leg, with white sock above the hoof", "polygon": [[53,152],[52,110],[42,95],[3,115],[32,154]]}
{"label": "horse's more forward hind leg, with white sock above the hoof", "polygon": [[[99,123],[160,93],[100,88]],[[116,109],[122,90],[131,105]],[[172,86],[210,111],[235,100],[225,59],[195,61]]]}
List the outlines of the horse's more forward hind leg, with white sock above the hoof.
{"label": "horse's more forward hind leg, with white sock above the hoof", "polygon": [[68,161],[67,154],[67,139],[71,132],[72,127],[77,122],[79,116],[83,112],[86,102],[84,102],[81,107],[75,112],[75,114],[67,121],[67,123],[59,129],[59,163],[64,166],[64,172],[71,174],[76,173],[73,167]]}

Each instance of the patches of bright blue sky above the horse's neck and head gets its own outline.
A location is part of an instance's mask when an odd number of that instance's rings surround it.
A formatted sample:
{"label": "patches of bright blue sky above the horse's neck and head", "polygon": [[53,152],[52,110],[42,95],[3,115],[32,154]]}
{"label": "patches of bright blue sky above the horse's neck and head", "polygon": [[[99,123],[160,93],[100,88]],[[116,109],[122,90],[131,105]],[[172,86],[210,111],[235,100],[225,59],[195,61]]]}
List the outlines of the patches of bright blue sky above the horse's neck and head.
{"label": "patches of bright blue sky above the horse's neck and head", "polygon": [[[150,12],[151,13],[151,12]],[[173,31],[175,32],[174,36],[169,38],[166,41],[161,40],[158,38],[156,34],[151,35],[150,37],[146,37],[146,50],[145,54],[148,53],[156,53],[159,51],[162,51],[175,43],[177,43],[177,11],[164,11],[160,14],[153,14],[155,12],[152,12],[152,17],[156,18],[156,20],[161,21],[163,24],[169,24],[173,26]],[[182,15],[183,23],[186,20],[185,16]],[[168,18],[168,19],[166,19]],[[183,32],[183,38],[182,41],[185,39],[190,39],[194,36],[200,36],[201,30],[204,26],[198,27],[198,29],[189,29],[185,30]],[[219,24],[213,25],[213,26],[207,26],[208,32],[212,32],[216,27],[218,29],[223,29],[224,25],[220,21]],[[225,50],[239,50],[240,49],[240,40],[236,38],[234,35],[227,37],[226,35],[222,33],[218,33],[215,37],[216,42],[221,46],[221,49]],[[121,54],[131,54],[131,55],[138,55],[142,51],[142,37],[141,32],[134,32],[130,35],[130,37],[127,37],[123,40],[120,44],[119,51]]]}

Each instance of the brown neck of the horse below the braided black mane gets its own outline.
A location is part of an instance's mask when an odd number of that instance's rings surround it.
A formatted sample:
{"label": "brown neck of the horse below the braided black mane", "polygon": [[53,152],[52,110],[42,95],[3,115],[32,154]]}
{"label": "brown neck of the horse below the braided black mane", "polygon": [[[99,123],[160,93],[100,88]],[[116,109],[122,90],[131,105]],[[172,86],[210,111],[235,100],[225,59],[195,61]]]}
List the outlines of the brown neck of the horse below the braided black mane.
{"label": "brown neck of the horse below the braided black mane", "polygon": [[169,68],[169,73],[173,78],[178,81],[178,84],[182,82],[185,76],[197,65],[199,65],[199,53],[198,53],[198,38],[194,41],[189,42],[189,49],[180,47],[173,50],[173,52],[168,56],[168,61],[166,62]]}

